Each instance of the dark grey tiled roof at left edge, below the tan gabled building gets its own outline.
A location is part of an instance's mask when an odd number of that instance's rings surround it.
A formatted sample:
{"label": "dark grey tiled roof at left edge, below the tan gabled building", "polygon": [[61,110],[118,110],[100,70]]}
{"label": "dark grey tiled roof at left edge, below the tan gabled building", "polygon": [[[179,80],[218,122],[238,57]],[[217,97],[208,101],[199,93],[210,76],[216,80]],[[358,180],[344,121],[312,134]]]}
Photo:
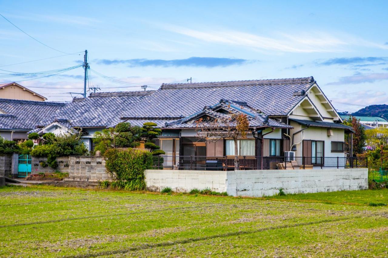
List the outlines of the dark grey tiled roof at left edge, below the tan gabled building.
{"label": "dark grey tiled roof at left edge, below the tan gabled building", "polygon": [[53,114],[65,103],[0,99],[0,130],[31,130],[44,125],[44,120],[53,120]]}

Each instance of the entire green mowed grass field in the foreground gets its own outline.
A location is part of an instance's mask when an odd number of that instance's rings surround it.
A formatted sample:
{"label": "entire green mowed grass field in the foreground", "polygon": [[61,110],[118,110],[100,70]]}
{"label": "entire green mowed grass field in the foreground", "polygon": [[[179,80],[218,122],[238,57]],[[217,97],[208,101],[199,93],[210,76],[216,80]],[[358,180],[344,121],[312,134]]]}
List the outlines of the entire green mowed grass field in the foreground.
{"label": "entire green mowed grass field in the foreground", "polygon": [[2,257],[388,256],[388,189],[274,198],[0,188]]}

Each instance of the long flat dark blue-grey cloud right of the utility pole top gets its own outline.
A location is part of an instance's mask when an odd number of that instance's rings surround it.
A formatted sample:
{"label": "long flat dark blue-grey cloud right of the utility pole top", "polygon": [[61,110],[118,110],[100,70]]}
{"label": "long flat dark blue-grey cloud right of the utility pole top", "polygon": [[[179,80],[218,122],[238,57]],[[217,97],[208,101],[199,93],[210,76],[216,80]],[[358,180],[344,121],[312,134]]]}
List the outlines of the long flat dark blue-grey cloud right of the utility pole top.
{"label": "long flat dark blue-grey cloud right of the utility pole top", "polygon": [[242,65],[251,62],[246,59],[239,58],[218,58],[218,57],[190,57],[186,59],[97,59],[97,64],[114,65],[114,64],[127,64],[129,67],[145,67],[145,66],[158,66],[158,67],[226,67],[231,65]]}

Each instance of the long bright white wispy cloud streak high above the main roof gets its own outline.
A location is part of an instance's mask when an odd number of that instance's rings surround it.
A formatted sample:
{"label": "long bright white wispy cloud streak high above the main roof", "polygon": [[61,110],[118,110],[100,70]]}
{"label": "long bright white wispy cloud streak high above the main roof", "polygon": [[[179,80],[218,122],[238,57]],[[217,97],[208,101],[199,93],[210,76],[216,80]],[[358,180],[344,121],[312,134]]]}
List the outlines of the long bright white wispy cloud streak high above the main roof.
{"label": "long bright white wispy cloud streak high above the main roof", "polygon": [[[163,29],[198,40],[227,45],[243,46],[253,50],[275,50],[277,52],[337,52],[349,43],[328,33],[278,33],[276,37],[261,36],[240,31],[208,29],[196,30],[180,26],[165,25]],[[295,36],[296,35],[296,36]]]}

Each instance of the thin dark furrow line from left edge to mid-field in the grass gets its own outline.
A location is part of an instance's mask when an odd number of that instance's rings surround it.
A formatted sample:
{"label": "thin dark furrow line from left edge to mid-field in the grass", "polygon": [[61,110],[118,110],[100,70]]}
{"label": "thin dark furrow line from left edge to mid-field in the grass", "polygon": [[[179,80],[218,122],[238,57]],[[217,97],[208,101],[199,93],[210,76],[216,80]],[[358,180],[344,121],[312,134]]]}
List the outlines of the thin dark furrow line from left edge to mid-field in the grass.
{"label": "thin dark furrow line from left edge to mid-field in the grass", "polygon": [[104,215],[92,215],[92,216],[75,217],[75,218],[62,218],[62,219],[58,219],[58,220],[46,220],[46,221],[26,222],[26,223],[18,223],[18,224],[11,224],[11,225],[0,225],[0,228],[27,226],[27,225],[38,225],[38,224],[47,224],[47,223],[63,222],[63,221],[69,221],[69,220],[82,220],[82,219],[85,219],[85,218],[116,217],[116,216],[123,216],[123,215],[133,215],[133,214],[149,213],[149,212],[165,212],[165,211],[168,211],[168,210],[187,210],[187,209],[193,209],[193,208],[211,208],[211,207],[217,207],[217,206],[220,206],[220,205],[173,207],[173,208],[165,208],[165,209],[159,209],[159,210],[143,210],[143,211],[139,211],[139,212],[121,212],[121,213],[108,214],[108,215],[107,214],[104,214]]}

